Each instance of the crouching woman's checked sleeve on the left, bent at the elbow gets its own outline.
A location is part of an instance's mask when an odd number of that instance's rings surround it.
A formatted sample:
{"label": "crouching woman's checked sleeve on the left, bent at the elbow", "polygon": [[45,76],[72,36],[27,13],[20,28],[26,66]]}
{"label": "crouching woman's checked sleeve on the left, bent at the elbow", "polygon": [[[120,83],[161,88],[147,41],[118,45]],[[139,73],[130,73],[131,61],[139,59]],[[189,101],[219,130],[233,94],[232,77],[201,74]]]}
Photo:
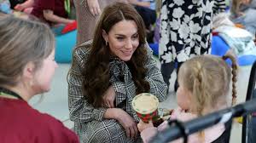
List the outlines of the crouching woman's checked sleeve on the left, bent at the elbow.
{"label": "crouching woman's checked sleeve on the left, bent at the elbow", "polygon": [[73,122],[90,122],[92,120],[102,121],[106,108],[94,108],[84,98],[82,93],[82,69],[84,66],[84,55],[82,49],[75,49],[73,53],[73,63],[67,75],[68,83],[68,108],[70,119]]}

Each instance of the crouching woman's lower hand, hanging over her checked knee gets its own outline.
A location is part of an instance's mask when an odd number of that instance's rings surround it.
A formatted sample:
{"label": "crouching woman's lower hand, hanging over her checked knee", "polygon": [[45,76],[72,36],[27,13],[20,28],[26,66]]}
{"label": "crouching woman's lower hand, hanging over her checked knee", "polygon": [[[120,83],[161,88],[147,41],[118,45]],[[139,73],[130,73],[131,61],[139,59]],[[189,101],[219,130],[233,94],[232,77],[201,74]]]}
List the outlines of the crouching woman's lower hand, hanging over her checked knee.
{"label": "crouching woman's lower hand, hanging over her checked knee", "polygon": [[122,109],[119,109],[118,112],[116,112],[116,119],[125,129],[127,137],[137,137],[137,123],[135,123],[134,119],[127,112],[123,111]]}

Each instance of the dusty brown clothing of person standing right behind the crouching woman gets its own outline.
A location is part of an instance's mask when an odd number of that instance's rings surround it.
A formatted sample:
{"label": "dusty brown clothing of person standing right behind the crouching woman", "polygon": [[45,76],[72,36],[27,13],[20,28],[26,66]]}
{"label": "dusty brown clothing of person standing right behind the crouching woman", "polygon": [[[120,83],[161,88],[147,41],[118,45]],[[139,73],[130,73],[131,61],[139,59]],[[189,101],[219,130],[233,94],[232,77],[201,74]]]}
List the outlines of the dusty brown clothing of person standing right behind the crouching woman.
{"label": "dusty brown clothing of person standing right behind the crouching woman", "polygon": [[[97,0],[101,10],[103,10],[108,4],[115,2],[125,2],[126,0]],[[77,45],[89,41],[93,37],[94,29],[96,27],[96,21],[99,19],[99,15],[93,16],[90,14],[90,9],[87,5],[87,0],[74,0],[73,1],[78,21],[78,37]]]}

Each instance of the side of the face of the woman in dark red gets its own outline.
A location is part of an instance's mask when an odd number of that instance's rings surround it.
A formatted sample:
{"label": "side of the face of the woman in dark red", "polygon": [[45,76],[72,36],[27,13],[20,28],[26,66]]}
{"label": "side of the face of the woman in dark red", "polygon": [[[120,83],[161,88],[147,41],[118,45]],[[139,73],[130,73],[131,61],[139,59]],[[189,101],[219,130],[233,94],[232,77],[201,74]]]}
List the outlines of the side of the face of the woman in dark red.
{"label": "side of the face of the woman in dark red", "polygon": [[52,53],[43,60],[42,66],[35,72],[32,88],[37,94],[49,91],[56,67],[55,50],[53,50]]}

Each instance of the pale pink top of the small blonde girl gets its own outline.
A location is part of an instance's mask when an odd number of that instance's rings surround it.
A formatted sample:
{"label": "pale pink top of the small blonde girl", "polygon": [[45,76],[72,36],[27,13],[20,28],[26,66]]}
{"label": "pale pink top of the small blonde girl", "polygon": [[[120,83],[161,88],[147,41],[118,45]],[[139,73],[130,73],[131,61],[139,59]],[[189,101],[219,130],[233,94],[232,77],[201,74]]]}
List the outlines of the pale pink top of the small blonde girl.
{"label": "pale pink top of the small blonde girl", "polygon": [[[172,112],[171,118],[172,119],[178,119],[180,121],[189,121],[193,118],[197,117],[195,114],[189,113],[189,112],[184,112],[180,107],[178,107],[177,109],[175,109]],[[155,127],[151,127],[148,129],[144,129],[143,132],[141,133],[141,137],[143,139],[143,142],[147,143],[149,140],[151,140],[151,138],[154,137],[154,135],[157,133],[157,131],[161,131],[163,129],[166,129],[166,127],[168,127],[168,123],[167,121],[165,121],[164,123],[161,123],[160,126],[158,128]],[[214,140],[217,140],[218,137],[224,133],[225,127],[224,124],[217,124],[215,126],[212,126],[209,129],[205,129],[204,133],[205,133],[205,143],[211,143]],[[179,142],[183,142],[182,139],[179,140],[174,140],[172,141],[172,143],[179,143]],[[201,142],[201,139],[199,137],[199,134],[191,134],[189,135],[189,143],[198,143]]]}

